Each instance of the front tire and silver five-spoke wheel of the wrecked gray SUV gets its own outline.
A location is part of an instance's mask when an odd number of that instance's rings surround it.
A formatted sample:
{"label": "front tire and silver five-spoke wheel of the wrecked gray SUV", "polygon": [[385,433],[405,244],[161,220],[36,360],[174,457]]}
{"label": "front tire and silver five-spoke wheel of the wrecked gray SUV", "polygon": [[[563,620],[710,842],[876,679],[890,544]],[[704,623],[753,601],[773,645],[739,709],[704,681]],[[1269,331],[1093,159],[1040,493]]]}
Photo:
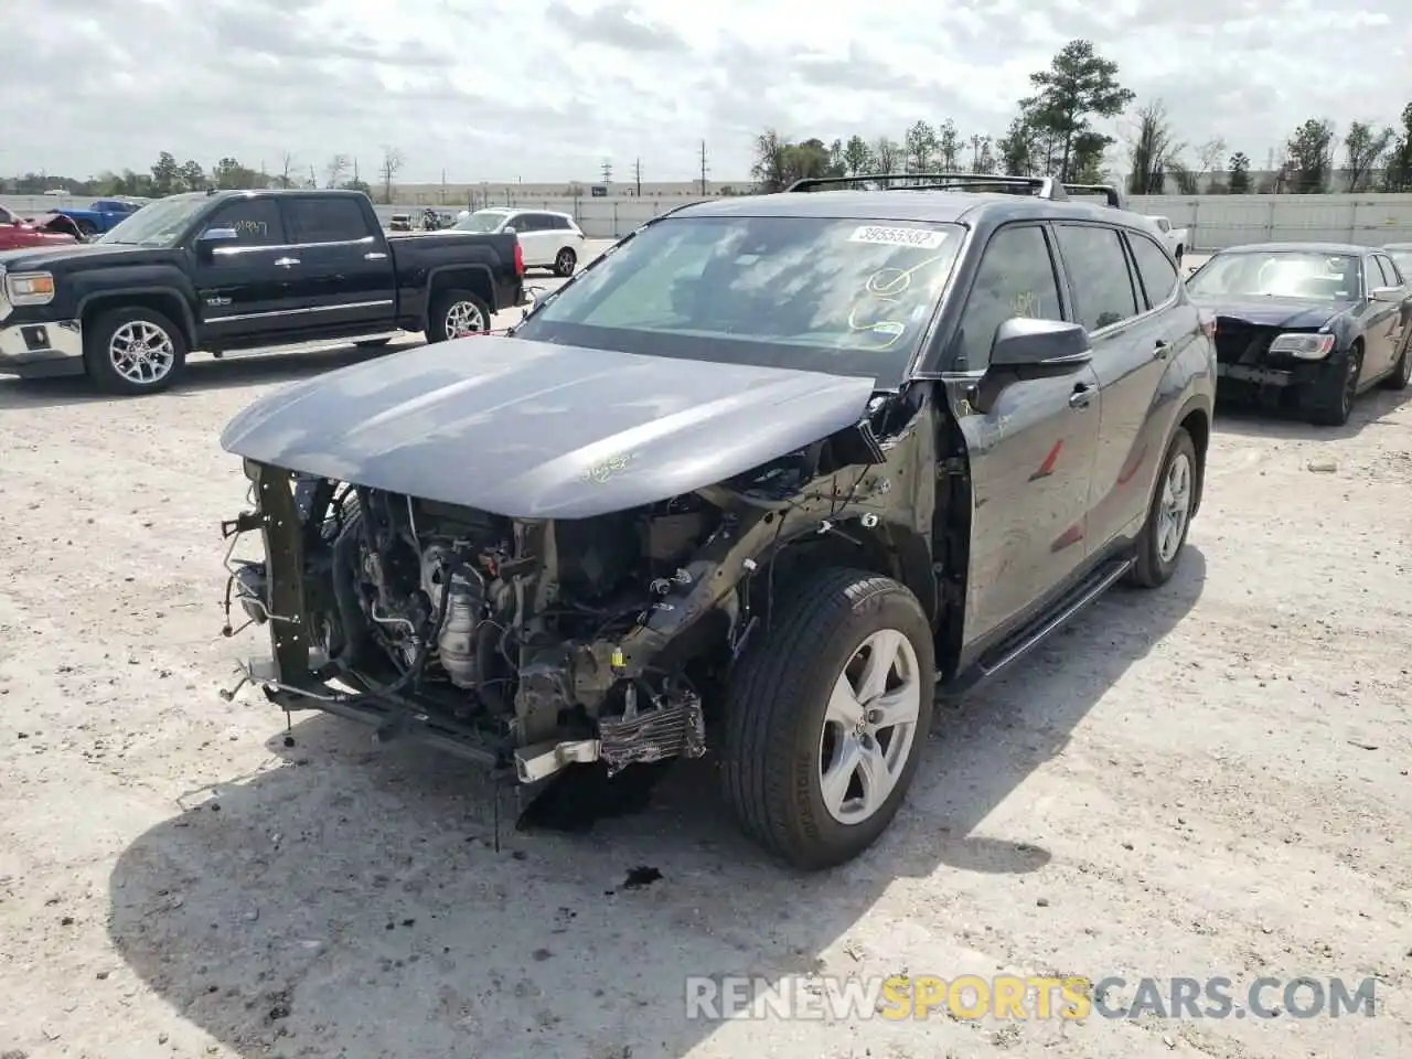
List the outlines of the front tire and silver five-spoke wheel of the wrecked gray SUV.
{"label": "front tire and silver five-spoke wheel of the wrecked gray SUV", "polygon": [[[857,857],[897,815],[926,741],[935,648],[916,597],[890,578],[830,568],[812,572],[778,599],[788,603],[778,606],[764,642],[746,655],[727,689],[722,779],[726,802],[750,837],[794,867],[818,871]],[[905,662],[890,666],[888,675],[911,671],[909,729],[873,729],[866,717],[853,730],[829,722],[830,692],[849,682],[847,669],[870,640],[891,640]],[[866,671],[864,659],[853,679]],[[844,686],[853,692],[851,683]],[[904,716],[908,705],[912,696],[904,698]],[[851,707],[857,709],[856,700]],[[891,774],[891,785],[880,784],[871,808],[860,796],[857,819],[839,819],[826,802],[825,757],[837,761],[849,747],[857,750],[858,731],[871,738],[874,751],[881,750],[882,760],[873,761]],[[878,738],[884,731],[888,736]],[[837,806],[847,806],[854,784],[863,794],[860,767],[840,771],[843,782],[829,785]]]}

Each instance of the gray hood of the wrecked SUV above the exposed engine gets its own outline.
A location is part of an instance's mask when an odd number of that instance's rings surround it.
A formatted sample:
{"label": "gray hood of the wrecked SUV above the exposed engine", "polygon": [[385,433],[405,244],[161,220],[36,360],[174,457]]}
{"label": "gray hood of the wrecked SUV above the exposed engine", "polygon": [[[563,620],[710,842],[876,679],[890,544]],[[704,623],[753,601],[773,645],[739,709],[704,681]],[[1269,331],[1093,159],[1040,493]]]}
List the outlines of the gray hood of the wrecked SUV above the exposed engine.
{"label": "gray hood of the wrecked SUV above the exposed engine", "polygon": [[230,453],[517,518],[590,518],[740,474],[863,418],[874,381],[477,336],[297,383]]}

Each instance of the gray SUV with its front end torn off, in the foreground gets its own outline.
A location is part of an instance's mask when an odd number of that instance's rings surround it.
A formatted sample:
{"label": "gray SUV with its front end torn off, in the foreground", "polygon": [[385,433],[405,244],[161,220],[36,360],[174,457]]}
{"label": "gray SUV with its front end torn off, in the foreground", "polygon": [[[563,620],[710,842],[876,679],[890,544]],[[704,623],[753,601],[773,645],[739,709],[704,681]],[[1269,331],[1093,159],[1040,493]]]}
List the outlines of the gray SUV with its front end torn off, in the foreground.
{"label": "gray SUV with its front end torn off, in the foreground", "polygon": [[[229,596],[273,641],[244,675],[534,789],[712,751],[754,839],[839,864],[895,816],[939,689],[1172,578],[1214,385],[1210,322],[1115,193],[693,203],[508,336],[229,424]],[[234,556],[251,531],[263,561]]]}

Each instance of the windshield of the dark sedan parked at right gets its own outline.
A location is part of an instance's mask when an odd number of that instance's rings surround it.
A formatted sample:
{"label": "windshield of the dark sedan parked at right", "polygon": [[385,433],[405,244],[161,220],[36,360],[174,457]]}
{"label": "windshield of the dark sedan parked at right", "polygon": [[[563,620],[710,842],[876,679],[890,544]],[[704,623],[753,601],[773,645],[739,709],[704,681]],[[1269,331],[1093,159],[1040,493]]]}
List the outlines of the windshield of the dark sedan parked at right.
{"label": "windshield of the dark sedan parked at right", "polygon": [[1312,250],[1240,250],[1217,254],[1186,281],[1200,297],[1302,298],[1347,302],[1363,297],[1360,260]]}

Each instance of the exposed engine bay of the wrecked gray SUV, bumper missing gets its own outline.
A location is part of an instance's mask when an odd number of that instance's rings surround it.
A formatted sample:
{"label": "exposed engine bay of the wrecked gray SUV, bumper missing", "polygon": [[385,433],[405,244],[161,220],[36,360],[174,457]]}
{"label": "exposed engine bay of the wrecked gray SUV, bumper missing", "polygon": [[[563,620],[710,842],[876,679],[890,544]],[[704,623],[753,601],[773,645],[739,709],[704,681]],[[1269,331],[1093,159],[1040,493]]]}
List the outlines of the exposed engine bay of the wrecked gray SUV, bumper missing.
{"label": "exposed engine bay of the wrecked gray SUV, bumper missing", "polygon": [[[890,476],[929,483],[916,467],[935,460],[929,438],[904,441],[884,452],[863,424],[736,480],[579,520],[507,518],[247,462],[256,510],[223,531],[233,555],[260,530],[267,561],[227,556],[227,613],[236,602],[268,623],[274,659],[246,678],[285,709],[480,747],[527,784],[575,762],[611,775],[699,757],[707,689],[772,602],[777,555],[806,544],[887,562],[894,520],[916,525],[914,496]],[[929,572],[926,545],[909,554]]]}

